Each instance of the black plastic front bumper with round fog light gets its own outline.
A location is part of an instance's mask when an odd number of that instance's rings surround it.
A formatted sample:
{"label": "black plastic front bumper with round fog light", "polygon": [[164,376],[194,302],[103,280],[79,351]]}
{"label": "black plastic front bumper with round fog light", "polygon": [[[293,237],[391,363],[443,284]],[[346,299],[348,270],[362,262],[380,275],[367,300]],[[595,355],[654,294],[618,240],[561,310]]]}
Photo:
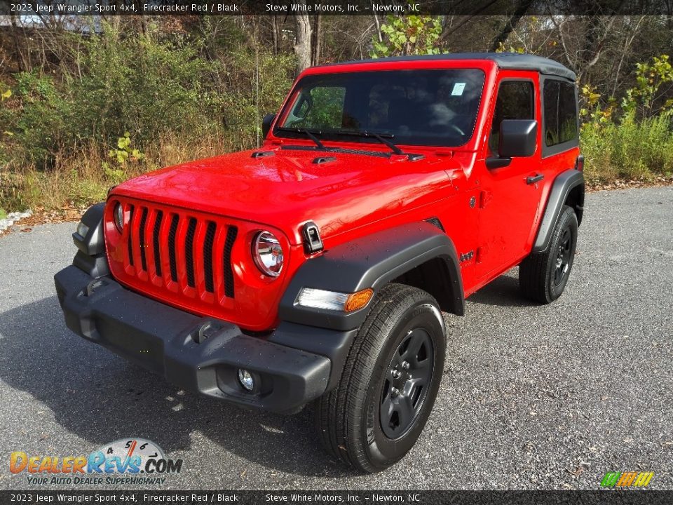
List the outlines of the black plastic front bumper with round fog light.
{"label": "black plastic front bumper with round fog light", "polygon": [[[74,266],[58,272],[55,283],[68,328],[186,391],[292,412],[321,396],[339,373],[330,370],[326,356],[278,343],[296,339],[296,328],[285,333],[278,328],[268,339],[250,337],[236,325],[168,307]],[[338,354],[347,351],[350,336],[344,335]],[[315,335],[315,342],[321,340]],[[240,386],[239,368],[256,379],[252,393]]]}

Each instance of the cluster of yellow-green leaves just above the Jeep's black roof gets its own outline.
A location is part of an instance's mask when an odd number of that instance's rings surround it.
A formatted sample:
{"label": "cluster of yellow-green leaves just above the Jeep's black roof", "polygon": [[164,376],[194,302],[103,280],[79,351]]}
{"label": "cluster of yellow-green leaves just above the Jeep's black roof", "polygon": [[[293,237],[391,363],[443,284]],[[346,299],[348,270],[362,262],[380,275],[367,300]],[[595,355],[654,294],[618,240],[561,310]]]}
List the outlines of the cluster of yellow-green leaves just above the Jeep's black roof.
{"label": "cluster of yellow-green leaves just above the Jeep's black roof", "polygon": [[372,58],[386,56],[439,54],[442,34],[440,18],[421,15],[388,15],[381,25],[383,41],[372,38]]}

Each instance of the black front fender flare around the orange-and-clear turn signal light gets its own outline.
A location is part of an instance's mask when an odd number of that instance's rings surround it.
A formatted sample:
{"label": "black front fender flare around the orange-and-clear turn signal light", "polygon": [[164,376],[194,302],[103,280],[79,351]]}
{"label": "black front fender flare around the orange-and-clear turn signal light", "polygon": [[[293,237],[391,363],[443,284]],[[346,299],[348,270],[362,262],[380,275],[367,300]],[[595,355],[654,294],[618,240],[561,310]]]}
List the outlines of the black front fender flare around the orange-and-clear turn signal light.
{"label": "black front fender flare around the orange-and-clear turn signal light", "polygon": [[[379,231],[355,239],[318,257],[307,260],[294,274],[280,299],[278,316],[290,323],[353,330],[369,312],[365,307],[348,314],[297,305],[301,288],[335,292],[358,292],[372,288],[376,292],[386,283],[428,260],[440,259],[444,287],[449,303],[444,309],[462,316],[464,313],[463,280],[456,248],[451,238],[428,222],[415,222]],[[372,297],[373,299],[373,297]]]}

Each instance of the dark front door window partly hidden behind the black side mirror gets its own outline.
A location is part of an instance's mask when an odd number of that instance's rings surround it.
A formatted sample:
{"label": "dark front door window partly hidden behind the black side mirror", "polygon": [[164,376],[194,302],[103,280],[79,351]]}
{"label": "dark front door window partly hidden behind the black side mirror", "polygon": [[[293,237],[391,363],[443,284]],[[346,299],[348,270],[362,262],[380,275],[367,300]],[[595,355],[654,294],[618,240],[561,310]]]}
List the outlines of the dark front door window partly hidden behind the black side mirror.
{"label": "dark front door window partly hidden behind the black side mirror", "polygon": [[503,81],[498,88],[496,109],[491,123],[489,149],[498,154],[500,123],[503,119],[535,119],[535,91],[531,81]]}

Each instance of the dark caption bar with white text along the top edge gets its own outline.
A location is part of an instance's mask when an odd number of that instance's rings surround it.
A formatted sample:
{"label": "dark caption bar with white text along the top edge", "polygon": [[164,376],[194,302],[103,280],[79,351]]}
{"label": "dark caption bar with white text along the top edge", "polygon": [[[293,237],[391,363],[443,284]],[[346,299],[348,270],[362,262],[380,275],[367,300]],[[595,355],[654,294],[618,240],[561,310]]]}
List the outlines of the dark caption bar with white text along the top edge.
{"label": "dark caption bar with white text along the top edge", "polygon": [[0,15],[673,15],[671,0],[0,0]]}

